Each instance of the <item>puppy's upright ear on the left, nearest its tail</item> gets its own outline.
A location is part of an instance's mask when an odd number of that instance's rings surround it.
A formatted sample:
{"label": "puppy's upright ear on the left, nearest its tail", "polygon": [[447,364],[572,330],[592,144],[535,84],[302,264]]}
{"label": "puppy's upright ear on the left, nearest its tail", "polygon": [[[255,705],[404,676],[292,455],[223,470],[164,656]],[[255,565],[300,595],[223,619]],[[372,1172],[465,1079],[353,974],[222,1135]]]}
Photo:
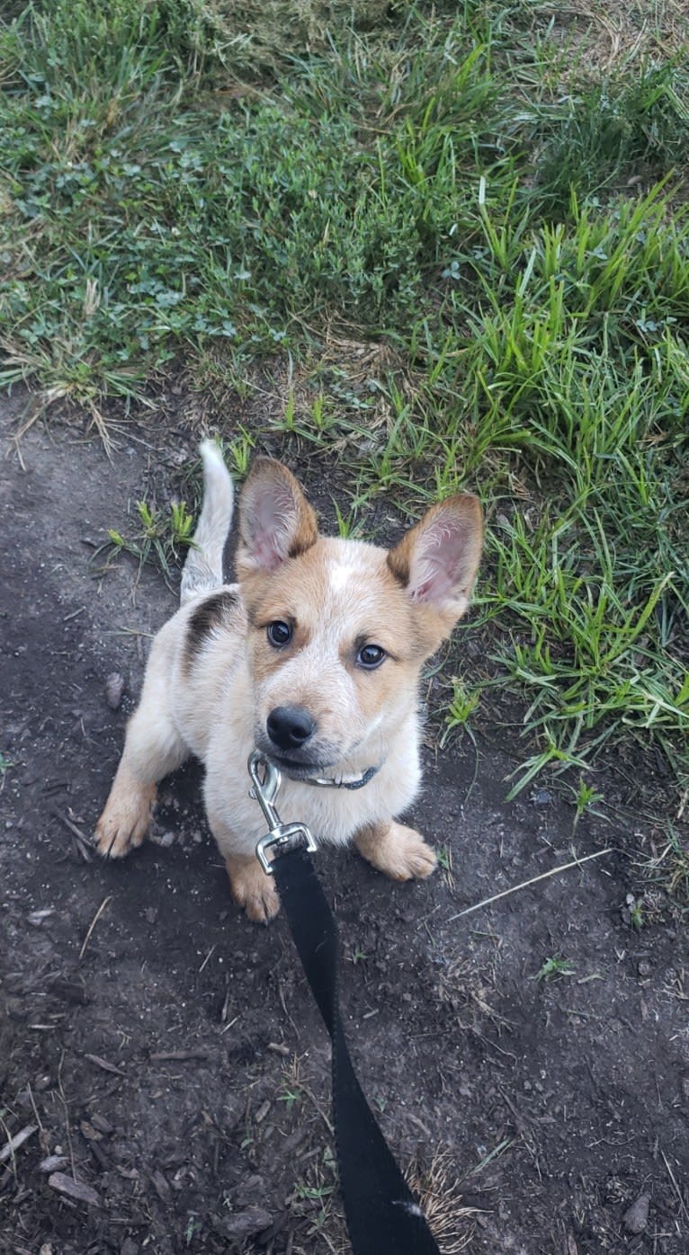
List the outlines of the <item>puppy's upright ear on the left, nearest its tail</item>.
{"label": "puppy's upright ear on the left, nearest its tail", "polygon": [[240,498],[240,580],[276,571],[316,540],[316,516],[291,471],[272,458],[257,458]]}

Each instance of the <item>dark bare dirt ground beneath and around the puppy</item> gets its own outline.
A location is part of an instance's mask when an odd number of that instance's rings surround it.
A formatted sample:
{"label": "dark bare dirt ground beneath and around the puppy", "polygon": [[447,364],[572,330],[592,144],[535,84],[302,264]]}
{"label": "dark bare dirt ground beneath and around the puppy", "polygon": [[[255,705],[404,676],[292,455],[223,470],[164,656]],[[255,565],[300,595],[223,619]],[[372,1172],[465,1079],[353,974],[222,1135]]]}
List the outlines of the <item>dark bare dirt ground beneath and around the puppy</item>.
{"label": "dark bare dirt ground beneath and around the puppy", "polygon": [[[193,438],[132,425],[109,463],[77,428],[36,424],[23,467],[25,399],[5,403],[0,462],[0,1251],[345,1251],[326,1037],[284,919],[257,927],[230,897],[198,768],[164,784],[153,840],[122,865],[80,836],[174,609],[151,569],[136,587],[128,558],[99,575],[94,547],[144,492],[166,499]],[[360,1079],[447,1255],[681,1255],[686,939],[663,904],[633,926],[634,782],[596,781],[629,821],[574,835],[541,784],[505,803],[512,767],[481,738],[428,748],[413,821],[452,870],[424,884],[318,857]],[[572,846],[612,852],[457,917]],[[572,974],[535,979],[555,956]]]}

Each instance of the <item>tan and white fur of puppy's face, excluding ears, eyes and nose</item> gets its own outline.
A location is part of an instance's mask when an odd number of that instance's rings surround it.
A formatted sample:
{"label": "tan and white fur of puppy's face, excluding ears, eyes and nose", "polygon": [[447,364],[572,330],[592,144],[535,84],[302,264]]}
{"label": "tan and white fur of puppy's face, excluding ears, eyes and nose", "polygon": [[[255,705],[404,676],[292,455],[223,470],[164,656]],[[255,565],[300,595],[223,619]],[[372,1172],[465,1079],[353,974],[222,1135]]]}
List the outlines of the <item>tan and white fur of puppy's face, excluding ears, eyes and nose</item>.
{"label": "tan and white fur of puppy's face, excluding ears, eyes and nose", "polygon": [[[414,615],[385,558],[373,545],[319,540],[260,584],[248,581],[260,728],[276,707],[304,707],[318,727],[309,753],[336,761],[374,734],[380,739],[414,708]],[[267,636],[275,621],[292,630],[281,648]],[[361,665],[365,645],[384,650],[379,666]]]}

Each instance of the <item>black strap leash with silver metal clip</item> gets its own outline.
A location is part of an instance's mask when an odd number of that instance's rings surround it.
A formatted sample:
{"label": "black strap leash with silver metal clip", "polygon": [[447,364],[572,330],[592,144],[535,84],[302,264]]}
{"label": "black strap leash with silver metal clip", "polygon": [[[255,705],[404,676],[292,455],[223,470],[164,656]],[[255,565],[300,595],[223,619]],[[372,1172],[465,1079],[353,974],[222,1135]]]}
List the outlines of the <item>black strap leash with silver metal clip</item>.
{"label": "black strap leash with silver metal clip", "polygon": [[[271,831],[259,845],[259,857],[265,868],[266,850],[276,851],[270,872],[275,876],[306,979],[333,1042],[335,1150],[353,1255],[439,1255],[349,1057],[338,1000],[338,927],[309,853],[314,848],[311,835],[304,825],[280,823],[272,806],[279,773],[266,764],[266,781],[261,782],[257,767],[264,764],[257,756],[254,764],[252,759],[252,796],[271,823]],[[299,842],[296,848],[295,842]]]}

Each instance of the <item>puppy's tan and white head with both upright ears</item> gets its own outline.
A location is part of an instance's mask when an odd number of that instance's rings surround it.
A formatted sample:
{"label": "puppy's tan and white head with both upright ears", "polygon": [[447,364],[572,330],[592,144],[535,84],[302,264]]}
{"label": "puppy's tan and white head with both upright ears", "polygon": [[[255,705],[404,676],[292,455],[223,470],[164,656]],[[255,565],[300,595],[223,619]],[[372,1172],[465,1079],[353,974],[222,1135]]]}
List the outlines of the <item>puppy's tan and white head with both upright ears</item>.
{"label": "puppy's tan and white head with both upright ears", "polygon": [[467,609],[481,540],[471,496],[433,506],[390,551],[323,538],[294,476],[259,459],[236,560],[259,749],[294,778],[379,763]]}

